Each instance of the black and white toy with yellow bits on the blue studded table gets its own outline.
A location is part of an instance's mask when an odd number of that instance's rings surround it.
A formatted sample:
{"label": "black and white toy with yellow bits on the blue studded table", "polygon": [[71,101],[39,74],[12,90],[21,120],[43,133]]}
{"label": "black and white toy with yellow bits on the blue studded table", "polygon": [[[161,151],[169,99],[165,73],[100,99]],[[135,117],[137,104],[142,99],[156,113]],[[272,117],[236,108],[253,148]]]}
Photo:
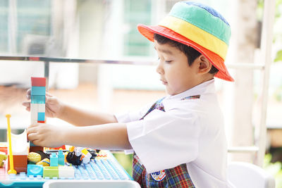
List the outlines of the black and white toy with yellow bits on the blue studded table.
{"label": "black and white toy with yellow bits on the blue studded table", "polygon": [[87,151],[85,148],[73,146],[66,156],[66,161],[73,165],[81,165],[81,163],[87,164],[96,156],[96,151]]}

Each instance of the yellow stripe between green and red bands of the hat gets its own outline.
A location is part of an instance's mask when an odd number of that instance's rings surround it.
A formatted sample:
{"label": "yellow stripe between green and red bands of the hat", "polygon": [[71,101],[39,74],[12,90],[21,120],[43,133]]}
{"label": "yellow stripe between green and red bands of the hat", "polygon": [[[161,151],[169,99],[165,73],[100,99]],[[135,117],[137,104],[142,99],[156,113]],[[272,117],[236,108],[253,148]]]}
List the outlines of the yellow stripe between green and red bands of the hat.
{"label": "yellow stripe between green and red bands of the hat", "polygon": [[223,58],[223,60],[225,60],[228,45],[221,39],[209,34],[199,27],[170,15],[166,16],[159,25],[167,27],[178,34],[183,35],[183,37],[200,44],[205,49],[218,54],[221,58]]}

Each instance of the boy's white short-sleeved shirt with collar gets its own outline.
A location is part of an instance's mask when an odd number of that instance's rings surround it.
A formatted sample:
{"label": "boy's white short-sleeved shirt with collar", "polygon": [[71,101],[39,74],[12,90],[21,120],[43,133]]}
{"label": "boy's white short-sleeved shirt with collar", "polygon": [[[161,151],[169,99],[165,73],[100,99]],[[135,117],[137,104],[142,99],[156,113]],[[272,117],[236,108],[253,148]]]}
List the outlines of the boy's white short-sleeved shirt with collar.
{"label": "boy's white short-sleeved shirt with collar", "polygon": [[[181,100],[194,95],[200,99]],[[229,187],[226,135],[214,80],[166,96],[162,104],[165,112],[154,109],[144,120],[140,118],[151,106],[116,115],[119,123],[127,123],[129,142],[147,173],[186,163],[195,187]]]}

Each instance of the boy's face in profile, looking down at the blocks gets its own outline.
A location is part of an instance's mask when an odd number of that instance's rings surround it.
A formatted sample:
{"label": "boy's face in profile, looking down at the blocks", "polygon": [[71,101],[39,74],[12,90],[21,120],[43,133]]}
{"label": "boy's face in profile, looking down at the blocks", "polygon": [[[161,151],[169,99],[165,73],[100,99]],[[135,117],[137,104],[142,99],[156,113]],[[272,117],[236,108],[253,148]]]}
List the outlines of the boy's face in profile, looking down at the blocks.
{"label": "boy's face in profile, looking down at the blocks", "polygon": [[199,84],[198,63],[189,66],[187,56],[170,44],[159,44],[155,40],[154,49],[159,56],[157,73],[168,94],[180,94]]}

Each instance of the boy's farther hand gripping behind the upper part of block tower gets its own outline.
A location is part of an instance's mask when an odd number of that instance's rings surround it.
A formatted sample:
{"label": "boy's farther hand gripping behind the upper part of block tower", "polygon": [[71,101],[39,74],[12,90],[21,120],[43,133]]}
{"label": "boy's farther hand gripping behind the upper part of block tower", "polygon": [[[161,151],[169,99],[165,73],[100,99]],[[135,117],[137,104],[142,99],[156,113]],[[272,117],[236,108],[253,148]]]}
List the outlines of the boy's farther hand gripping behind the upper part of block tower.
{"label": "boy's farther hand gripping behind the upper part of block tower", "polygon": [[[27,99],[30,100],[31,89],[27,90]],[[30,101],[23,102],[23,106],[26,107],[27,111],[30,111]],[[56,96],[52,96],[49,93],[46,93],[45,96],[45,115],[49,118],[59,118],[61,116],[61,113],[63,111],[63,104],[59,99],[56,98]]]}

